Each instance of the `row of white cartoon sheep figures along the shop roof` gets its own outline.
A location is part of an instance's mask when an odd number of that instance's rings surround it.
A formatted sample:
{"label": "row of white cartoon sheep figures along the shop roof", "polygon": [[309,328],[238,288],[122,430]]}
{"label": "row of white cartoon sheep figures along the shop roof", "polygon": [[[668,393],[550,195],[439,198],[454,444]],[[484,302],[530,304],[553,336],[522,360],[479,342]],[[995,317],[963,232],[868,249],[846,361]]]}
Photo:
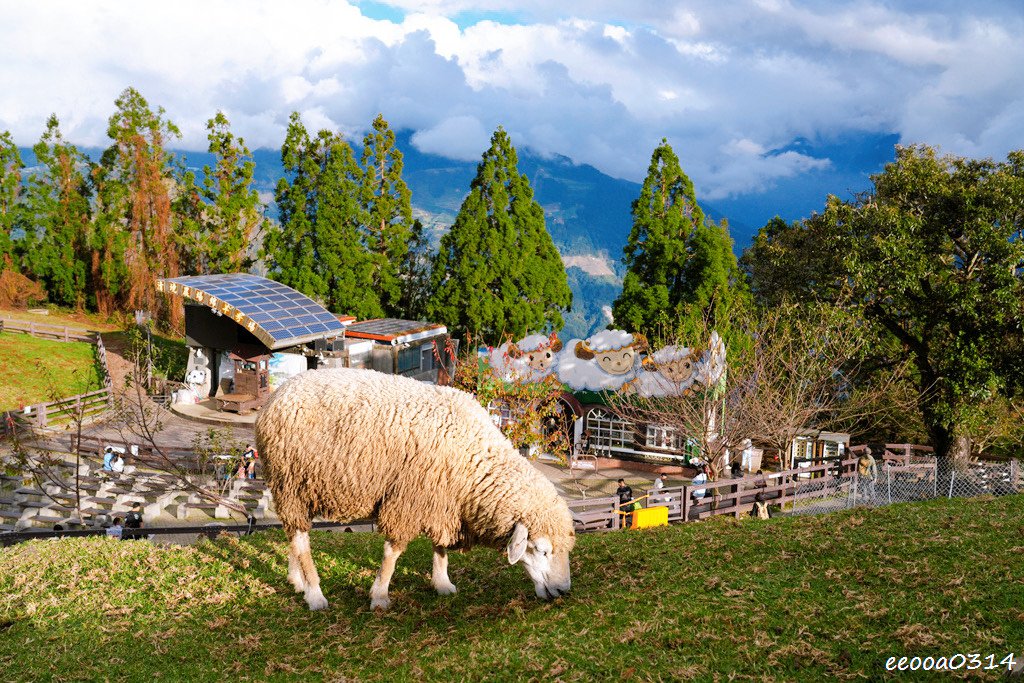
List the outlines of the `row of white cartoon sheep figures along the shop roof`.
{"label": "row of white cartoon sheep figures along the shop roof", "polygon": [[665,346],[656,351],[642,334],[623,330],[603,330],[564,346],[554,336],[530,335],[494,349],[490,366],[506,379],[539,380],[554,374],[573,391],[675,396],[720,382],[725,345],[717,332],[708,349]]}

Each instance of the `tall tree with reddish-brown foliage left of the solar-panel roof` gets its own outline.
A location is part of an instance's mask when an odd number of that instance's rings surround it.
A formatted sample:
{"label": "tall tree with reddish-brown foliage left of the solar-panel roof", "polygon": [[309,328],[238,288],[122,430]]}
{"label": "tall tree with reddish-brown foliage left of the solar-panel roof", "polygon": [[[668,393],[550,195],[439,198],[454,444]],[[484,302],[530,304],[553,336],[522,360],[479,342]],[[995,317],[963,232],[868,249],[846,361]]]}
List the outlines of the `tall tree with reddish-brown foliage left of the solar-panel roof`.
{"label": "tall tree with reddish-brown foliage left of the solar-panel roof", "polygon": [[115,101],[106,134],[113,140],[96,173],[97,220],[90,264],[96,308],[148,309],[180,326],[180,303],[158,297],[154,281],[180,274],[179,242],[171,211],[174,186],[165,145],[180,137],[164,109],[156,112],[134,88]]}

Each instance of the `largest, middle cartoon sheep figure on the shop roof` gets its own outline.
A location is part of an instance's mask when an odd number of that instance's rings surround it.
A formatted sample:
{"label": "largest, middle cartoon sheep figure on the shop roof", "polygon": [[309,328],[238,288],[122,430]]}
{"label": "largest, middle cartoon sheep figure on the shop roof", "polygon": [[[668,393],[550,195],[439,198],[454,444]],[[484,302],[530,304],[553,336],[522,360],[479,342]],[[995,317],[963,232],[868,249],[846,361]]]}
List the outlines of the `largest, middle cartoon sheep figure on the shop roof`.
{"label": "largest, middle cartoon sheep figure on the shop roof", "polygon": [[643,335],[622,330],[573,339],[558,356],[558,379],[577,391],[617,391],[636,378],[637,356],[646,350]]}

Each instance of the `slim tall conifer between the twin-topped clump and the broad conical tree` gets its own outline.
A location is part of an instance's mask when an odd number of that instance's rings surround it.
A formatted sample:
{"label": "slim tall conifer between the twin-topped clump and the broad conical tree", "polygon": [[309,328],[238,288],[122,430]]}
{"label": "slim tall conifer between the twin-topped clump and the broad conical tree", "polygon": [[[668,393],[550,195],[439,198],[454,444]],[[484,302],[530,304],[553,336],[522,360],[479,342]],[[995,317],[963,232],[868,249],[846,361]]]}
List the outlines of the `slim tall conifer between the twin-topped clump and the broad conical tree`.
{"label": "slim tall conifer between the twin-topped clump and the broad conical tree", "polygon": [[385,314],[397,316],[401,314],[399,270],[409,251],[413,207],[409,187],[401,179],[401,152],[381,114],[362,138],[361,167],[359,204],[366,215],[367,250],[373,255],[374,286]]}

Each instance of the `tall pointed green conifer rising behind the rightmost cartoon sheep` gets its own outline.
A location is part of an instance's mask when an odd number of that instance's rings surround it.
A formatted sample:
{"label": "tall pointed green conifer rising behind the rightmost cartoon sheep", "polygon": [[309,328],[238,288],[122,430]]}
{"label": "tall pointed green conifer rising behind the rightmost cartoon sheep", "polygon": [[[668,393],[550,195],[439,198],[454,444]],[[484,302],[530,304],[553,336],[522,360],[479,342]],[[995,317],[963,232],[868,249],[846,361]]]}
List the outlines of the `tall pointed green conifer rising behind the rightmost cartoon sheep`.
{"label": "tall pointed green conifer rising behind the rightmost cartoon sheep", "polygon": [[611,306],[614,326],[657,338],[675,332],[687,289],[687,244],[705,216],[693,183],[668,141],[654,150],[640,196],[633,202],[633,229],[623,262],[623,293]]}

